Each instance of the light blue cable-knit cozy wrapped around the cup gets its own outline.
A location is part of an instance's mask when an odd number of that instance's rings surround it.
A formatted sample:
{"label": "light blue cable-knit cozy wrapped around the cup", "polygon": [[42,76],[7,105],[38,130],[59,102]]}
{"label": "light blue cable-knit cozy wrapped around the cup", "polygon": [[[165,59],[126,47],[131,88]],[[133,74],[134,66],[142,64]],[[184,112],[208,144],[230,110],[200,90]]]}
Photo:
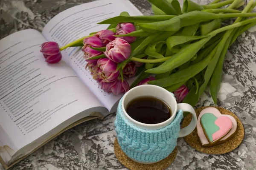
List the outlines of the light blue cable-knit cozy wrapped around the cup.
{"label": "light blue cable-knit cozy wrapped around the cup", "polygon": [[179,110],[170,125],[158,130],[144,130],[125,119],[122,99],[119,102],[115,127],[122,151],[140,162],[156,162],[165,159],[175,149],[180,131],[183,111]]}

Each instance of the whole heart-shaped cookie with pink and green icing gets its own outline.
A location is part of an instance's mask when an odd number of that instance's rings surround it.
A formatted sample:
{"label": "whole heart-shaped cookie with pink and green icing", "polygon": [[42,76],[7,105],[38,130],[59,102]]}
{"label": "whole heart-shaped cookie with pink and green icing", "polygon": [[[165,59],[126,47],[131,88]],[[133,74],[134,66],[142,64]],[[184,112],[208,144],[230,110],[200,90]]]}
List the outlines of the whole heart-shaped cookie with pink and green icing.
{"label": "whole heart-shaped cookie with pink and green icing", "polygon": [[233,136],[236,128],[236,119],[222,115],[216,108],[206,108],[198,116],[197,131],[203,146],[225,142]]}

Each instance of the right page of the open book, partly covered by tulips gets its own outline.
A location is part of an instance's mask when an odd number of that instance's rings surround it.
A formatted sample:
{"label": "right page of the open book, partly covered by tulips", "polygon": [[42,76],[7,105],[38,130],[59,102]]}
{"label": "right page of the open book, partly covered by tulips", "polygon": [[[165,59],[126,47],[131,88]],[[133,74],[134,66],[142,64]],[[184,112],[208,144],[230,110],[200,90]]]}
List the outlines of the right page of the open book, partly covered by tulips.
{"label": "right page of the open book, partly covered by tulips", "polygon": [[[55,41],[64,46],[73,40],[89,35],[91,32],[106,29],[108,25],[97,23],[111,17],[118,16],[122,11],[130,15],[142,15],[142,13],[129,0],[97,0],[69,8],[52,18],[44,27],[42,34],[48,41]],[[92,79],[90,72],[85,70],[84,54],[81,47],[71,47],[62,51],[64,60],[79,75],[80,79],[95,94],[102,104],[111,110],[113,105],[122,97],[105,93]],[[130,82],[132,82],[130,80]]]}

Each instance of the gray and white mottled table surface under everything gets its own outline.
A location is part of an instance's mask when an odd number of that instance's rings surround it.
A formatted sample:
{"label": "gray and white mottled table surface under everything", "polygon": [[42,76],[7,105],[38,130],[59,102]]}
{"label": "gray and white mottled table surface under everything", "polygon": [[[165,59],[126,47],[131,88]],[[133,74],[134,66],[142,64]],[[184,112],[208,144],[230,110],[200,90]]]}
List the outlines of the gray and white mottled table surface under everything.
{"label": "gray and white mottled table surface under everything", "polygon": [[[93,0],[0,0],[0,39],[26,28],[39,31],[59,12]],[[151,14],[146,0],[131,0],[144,14]],[[198,0],[198,3],[207,3]],[[178,153],[168,170],[256,169],[256,27],[242,34],[230,47],[224,62],[218,106],[236,113],[245,136],[231,153],[211,156],[178,139]],[[197,107],[213,105],[209,89]],[[113,153],[115,114],[104,120],[78,125],[12,167],[12,170],[124,170]],[[3,167],[0,165],[0,170]]]}

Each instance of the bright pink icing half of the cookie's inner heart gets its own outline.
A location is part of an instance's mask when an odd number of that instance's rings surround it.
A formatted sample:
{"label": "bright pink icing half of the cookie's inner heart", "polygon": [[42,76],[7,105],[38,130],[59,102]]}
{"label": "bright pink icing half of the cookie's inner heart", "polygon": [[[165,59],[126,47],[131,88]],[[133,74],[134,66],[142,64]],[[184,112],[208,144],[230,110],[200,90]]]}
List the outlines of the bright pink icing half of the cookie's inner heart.
{"label": "bright pink icing half of the cookie's inner heart", "polygon": [[216,141],[222,136],[225,136],[228,131],[233,127],[231,119],[227,116],[218,117],[218,119],[216,119],[214,123],[220,128],[220,130],[212,134],[212,141]]}

